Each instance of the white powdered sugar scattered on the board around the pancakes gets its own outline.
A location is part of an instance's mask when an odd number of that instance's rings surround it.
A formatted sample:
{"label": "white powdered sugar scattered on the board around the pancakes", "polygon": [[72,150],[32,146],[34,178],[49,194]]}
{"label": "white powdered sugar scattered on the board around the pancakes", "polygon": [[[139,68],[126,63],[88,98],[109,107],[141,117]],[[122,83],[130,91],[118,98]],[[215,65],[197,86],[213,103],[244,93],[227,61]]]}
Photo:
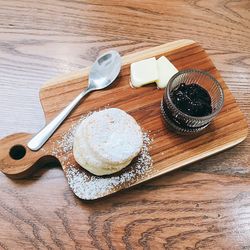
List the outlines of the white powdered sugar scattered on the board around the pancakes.
{"label": "white powdered sugar scattered on the board around the pancakes", "polygon": [[84,170],[73,157],[74,133],[77,126],[91,113],[82,116],[72,124],[62,138],[53,145],[52,154],[64,166],[68,183],[73,192],[81,199],[93,200],[117,192],[145,179],[152,172],[152,159],[149,154],[151,139],[143,133],[143,147],[138,157],[123,171],[115,175],[95,176]]}

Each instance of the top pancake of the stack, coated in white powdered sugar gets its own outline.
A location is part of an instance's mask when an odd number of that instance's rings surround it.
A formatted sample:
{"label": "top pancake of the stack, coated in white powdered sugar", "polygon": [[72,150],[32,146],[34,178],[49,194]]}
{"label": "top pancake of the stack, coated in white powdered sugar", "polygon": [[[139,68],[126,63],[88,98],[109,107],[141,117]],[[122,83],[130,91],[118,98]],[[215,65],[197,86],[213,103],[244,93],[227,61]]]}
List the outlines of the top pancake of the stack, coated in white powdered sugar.
{"label": "top pancake of the stack, coated in white powdered sugar", "polygon": [[89,148],[109,164],[131,161],[143,144],[142,131],[135,119],[117,108],[89,116],[85,135]]}

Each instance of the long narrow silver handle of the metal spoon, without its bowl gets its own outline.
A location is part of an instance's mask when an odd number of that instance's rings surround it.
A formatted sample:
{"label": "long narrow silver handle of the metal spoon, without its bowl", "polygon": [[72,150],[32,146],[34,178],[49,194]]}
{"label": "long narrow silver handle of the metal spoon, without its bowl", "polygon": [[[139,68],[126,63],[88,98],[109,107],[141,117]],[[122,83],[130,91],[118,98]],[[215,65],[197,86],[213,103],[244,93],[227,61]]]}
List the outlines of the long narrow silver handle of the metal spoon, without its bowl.
{"label": "long narrow silver handle of the metal spoon, without its bowl", "polygon": [[82,98],[91,92],[90,88],[86,88],[81,92],[73,101],[69,103],[51,122],[49,122],[40,132],[38,132],[27,144],[27,146],[37,151],[43,144],[50,138],[50,136],[56,131],[56,129],[62,124],[65,118],[71,113],[71,111],[80,103]]}

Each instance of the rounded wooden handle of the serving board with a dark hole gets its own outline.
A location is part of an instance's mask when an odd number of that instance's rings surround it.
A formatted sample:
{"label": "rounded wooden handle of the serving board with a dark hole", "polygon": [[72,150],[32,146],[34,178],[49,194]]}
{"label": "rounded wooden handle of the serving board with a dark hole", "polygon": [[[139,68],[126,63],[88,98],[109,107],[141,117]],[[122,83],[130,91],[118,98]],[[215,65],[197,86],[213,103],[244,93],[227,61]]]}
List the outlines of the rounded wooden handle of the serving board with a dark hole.
{"label": "rounded wooden handle of the serving board with a dark hole", "polygon": [[18,133],[0,140],[0,170],[11,178],[24,178],[45,162],[55,160],[45,155],[43,150],[36,152],[27,147],[31,134]]}

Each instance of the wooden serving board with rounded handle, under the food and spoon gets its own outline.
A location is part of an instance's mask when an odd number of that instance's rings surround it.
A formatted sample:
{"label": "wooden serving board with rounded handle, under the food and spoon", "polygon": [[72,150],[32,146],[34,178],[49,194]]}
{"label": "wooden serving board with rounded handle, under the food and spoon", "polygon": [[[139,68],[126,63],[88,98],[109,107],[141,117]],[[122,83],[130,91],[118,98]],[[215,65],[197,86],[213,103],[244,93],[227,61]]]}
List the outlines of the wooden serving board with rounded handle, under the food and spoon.
{"label": "wooden serving board with rounded handle, under the food and spoon", "polygon": [[[199,136],[181,136],[164,125],[160,114],[163,90],[155,85],[132,89],[130,64],[152,56],[166,56],[178,70],[194,68],[209,71],[222,85],[225,104],[222,111]],[[88,71],[69,74],[50,81],[40,91],[46,121],[50,121],[88,82]],[[72,155],[72,138],[83,115],[105,107],[116,107],[131,114],[149,137],[148,157],[134,162],[124,171],[96,177],[82,169]],[[31,118],[32,119],[32,118]],[[82,199],[97,199],[167,173],[232,147],[247,136],[247,122],[219,72],[202,47],[191,40],[179,40],[123,57],[121,74],[110,89],[94,92],[78,106],[43,148],[27,148],[30,134],[19,133],[0,141],[0,169],[12,178],[22,178],[45,162],[59,160],[74,193]],[[26,153],[25,153],[26,151]],[[25,153],[25,155],[24,155]],[[13,159],[20,158],[20,159]],[[145,165],[146,164],[146,165]]]}

